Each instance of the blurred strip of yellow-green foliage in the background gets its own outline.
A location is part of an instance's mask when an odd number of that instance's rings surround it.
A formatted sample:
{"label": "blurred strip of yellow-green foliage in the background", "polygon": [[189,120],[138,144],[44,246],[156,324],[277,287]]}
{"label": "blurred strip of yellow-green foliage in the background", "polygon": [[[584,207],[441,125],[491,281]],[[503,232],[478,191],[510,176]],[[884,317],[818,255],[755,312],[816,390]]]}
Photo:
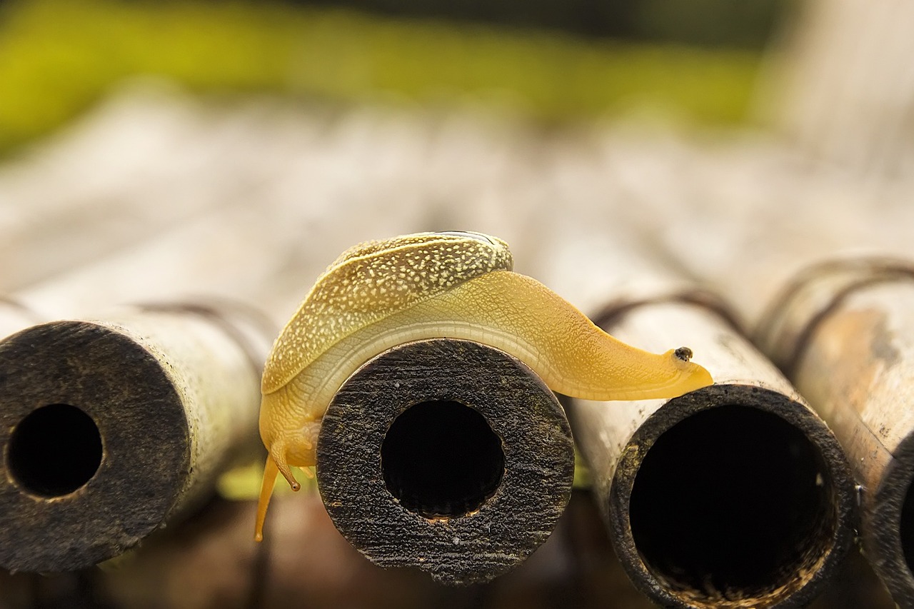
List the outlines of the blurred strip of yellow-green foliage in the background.
{"label": "blurred strip of yellow-green foliage in the background", "polygon": [[544,122],[647,103],[733,124],[746,120],[759,59],[296,5],[14,0],[0,5],[0,153],[141,74],[333,102],[509,100]]}

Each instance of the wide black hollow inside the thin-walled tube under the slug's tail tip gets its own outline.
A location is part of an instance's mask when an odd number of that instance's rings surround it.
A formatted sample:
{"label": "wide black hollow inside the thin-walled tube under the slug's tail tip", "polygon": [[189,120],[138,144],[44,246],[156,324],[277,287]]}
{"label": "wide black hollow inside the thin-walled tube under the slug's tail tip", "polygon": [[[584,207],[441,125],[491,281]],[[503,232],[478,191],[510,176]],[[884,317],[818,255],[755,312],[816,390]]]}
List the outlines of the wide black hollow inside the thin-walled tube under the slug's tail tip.
{"label": "wide black hollow inside the thin-walled tube under the slug's tail tip", "polygon": [[837,526],[814,444],[779,416],[732,405],[657,439],[635,477],[630,518],[648,569],[708,603],[799,587]]}

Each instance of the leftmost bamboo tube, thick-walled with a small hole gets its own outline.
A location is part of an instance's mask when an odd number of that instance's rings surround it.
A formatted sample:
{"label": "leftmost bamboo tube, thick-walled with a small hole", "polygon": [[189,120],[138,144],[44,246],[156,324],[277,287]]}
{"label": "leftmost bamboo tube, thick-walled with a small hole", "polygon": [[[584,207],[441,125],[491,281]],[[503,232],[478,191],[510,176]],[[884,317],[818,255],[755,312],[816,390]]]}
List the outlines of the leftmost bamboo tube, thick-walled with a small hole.
{"label": "leftmost bamboo tube, thick-walled with a small hole", "polygon": [[0,342],[0,566],[88,567],[199,506],[255,450],[272,334],[221,303],[51,322]]}

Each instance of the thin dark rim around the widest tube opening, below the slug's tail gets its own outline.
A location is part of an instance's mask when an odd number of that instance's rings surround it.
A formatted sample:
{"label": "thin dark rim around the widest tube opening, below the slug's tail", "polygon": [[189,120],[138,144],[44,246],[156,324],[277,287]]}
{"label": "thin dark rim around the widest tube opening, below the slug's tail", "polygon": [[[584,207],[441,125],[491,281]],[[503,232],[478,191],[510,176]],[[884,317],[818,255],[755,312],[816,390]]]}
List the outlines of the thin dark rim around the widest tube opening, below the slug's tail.
{"label": "thin dark rim around the widest tube opening, below the slug's tail", "polygon": [[[709,404],[711,407],[709,408]],[[677,586],[669,573],[658,572],[648,564],[643,548],[632,533],[632,491],[637,485],[638,475],[648,454],[664,433],[674,430],[676,425],[696,415],[726,411],[732,407],[746,408],[777,417],[786,425],[806,438],[808,448],[822,451],[817,455],[817,464],[824,471],[822,488],[816,515],[823,517],[818,526],[809,531],[809,537],[799,533],[793,541],[800,543],[810,537],[816,543],[798,554],[792,564],[783,569],[781,582],[774,578],[771,585],[758,590],[735,591],[730,598],[727,591],[692,592],[688,586]],[[851,480],[849,469],[844,471],[845,457],[834,436],[828,432],[812,412],[805,407],[796,408],[791,400],[779,391],[749,385],[713,385],[667,401],[664,406],[649,416],[632,435],[622,451],[613,474],[610,493],[610,527],[616,551],[626,560],[622,561],[632,581],[649,593],[655,600],[674,607],[757,607],[757,606],[802,606],[821,592],[821,588],[840,567],[847,551],[851,548],[853,528],[846,523],[853,522],[856,514],[853,484],[842,484]],[[678,497],[681,498],[681,497]],[[671,497],[674,499],[674,497]],[[814,535],[813,535],[814,533]],[[790,572],[800,572],[799,577],[786,577]],[[678,588],[678,589],[677,589]],[[766,589],[767,588],[767,589]],[[720,593],[716,597],[716,594]],[[732,594],[732,593],[731,593]],[[743,595],[740,598],[740,594]]]}

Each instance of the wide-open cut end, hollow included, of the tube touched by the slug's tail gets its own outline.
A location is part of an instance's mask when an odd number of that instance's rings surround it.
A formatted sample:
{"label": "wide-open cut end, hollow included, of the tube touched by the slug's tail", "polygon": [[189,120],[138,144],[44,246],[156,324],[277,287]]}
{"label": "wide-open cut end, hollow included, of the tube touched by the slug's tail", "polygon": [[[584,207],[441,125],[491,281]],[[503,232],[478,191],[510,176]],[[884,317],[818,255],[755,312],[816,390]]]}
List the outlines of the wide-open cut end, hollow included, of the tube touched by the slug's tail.
{"label": "wide-open cut end, hollow included, of the tube touched by the slug's tail", "polygon": [[624,447],[611,485],[632,578],[671,606],[812,600],[851,539],[824,433],[777,391],[715,385],[664,404]]}

